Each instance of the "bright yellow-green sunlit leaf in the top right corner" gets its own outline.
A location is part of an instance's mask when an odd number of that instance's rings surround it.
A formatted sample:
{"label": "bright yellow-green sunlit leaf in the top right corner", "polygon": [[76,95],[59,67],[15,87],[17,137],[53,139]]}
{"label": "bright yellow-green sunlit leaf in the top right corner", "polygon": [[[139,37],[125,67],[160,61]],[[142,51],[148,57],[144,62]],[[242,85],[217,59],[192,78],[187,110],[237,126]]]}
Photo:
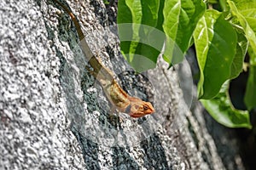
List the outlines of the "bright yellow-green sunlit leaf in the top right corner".
{"label": "bright yellow-green sunlit leaf in the top right corner", "polygon": [[[253,31],[251,26],[247,23],[248,18],[246,20],[246,18],[239,11],[239,10],[244,11],[245,9],[252,8],[252,7],[256,8],[256,2],[255,1],[253,1],[253,2],[244,1],[244,2],[246,2],[246,3],[239,2],[238,4],[241,4],[241,7],[239,7],[239,9],[237,9],[236,4],[234,2],[232,2],[230,0],[228,1],[229,5],[230,5],[231,13],[239,21],[239,23],[240,23],[240,25],[243,28],[243,31],[245,33],[245,37],[247,37],[247,40],[250,42],[250,46],[252,47],[253,53],[256,54],[256,36],[255,36],[255,32]],[[245,14],[247,14],[247,12],[245,12]],[[254,21],[253,21],[253,24],[252,24],[253,26],[255,26]],[[251,63],[253,65],[256,65],[256,59],[253,59],[251,61]]]}

